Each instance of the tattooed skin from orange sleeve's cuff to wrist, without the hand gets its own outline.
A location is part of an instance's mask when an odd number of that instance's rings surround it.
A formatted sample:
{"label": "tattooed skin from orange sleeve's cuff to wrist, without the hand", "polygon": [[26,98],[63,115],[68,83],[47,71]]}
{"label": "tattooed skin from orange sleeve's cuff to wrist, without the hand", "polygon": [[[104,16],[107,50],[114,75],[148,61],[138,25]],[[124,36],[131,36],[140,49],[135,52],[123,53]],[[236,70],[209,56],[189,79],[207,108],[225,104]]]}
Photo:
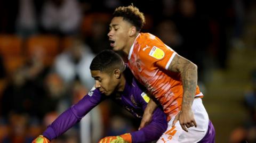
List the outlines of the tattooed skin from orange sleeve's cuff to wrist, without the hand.
{"label": "tattooed skin from orange sleeve's cuff to wrist, without the hand", "polygon": [[173,58],[168,70],[180,73],[183,85],[182,108],[191,107],[197,86],[197,66],[177,54]]}

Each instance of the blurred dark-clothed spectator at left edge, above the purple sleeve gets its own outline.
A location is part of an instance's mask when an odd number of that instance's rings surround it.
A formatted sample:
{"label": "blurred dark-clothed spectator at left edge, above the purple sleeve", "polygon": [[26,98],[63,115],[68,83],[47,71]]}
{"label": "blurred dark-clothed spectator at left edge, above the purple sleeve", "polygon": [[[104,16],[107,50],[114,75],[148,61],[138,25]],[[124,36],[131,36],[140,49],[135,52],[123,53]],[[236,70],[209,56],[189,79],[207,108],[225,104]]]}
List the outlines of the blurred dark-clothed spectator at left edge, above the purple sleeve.
{"label": "blurred dark-clothed spectator at left edge, above the purple sleeve", "polygon": [[27,62],[12,73],[3,91],[2,114],[10,112],[28,113],[41,118],[38,103],[45,97],[44,78],[49,68],[43,64],[44,51],[37,49],[28,57]]}

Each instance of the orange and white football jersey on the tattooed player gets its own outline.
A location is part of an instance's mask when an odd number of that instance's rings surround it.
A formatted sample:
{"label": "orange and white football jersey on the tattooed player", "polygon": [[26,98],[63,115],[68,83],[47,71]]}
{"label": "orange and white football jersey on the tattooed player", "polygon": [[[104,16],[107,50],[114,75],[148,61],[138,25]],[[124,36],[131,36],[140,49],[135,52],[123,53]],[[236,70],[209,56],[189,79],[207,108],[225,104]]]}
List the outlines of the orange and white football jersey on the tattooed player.
{"label": "orange and white football jersey on the tattooed player", "polygon": [[[139,33],[128,57],[132,73],[161,103],[168,121],[180,111],[183,95],[180,74],[167,70],[176,54],[156,36]],[[195,96],[203,97],[198,86]]]}

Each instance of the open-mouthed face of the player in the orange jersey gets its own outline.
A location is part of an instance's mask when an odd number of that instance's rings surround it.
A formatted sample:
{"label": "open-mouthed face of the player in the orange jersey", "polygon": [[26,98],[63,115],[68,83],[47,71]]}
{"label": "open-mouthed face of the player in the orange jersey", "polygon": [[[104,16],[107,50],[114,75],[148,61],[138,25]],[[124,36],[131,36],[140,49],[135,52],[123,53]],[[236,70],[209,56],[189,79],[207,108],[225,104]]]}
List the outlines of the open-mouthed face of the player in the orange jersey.
{"label": "open-mouthed face of the player in the orange jersey", "polygon": [[123,50],[127,46],[131,24],[123,17],[114,17],[109,24],[109,41],[114,51]]}

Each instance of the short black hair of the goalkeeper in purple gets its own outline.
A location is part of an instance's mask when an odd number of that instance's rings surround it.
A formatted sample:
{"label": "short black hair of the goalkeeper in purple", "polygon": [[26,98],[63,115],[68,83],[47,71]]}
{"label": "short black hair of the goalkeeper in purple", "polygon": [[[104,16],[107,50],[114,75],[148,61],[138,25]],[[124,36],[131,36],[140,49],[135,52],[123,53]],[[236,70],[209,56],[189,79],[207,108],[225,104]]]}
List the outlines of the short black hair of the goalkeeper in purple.
{"label": "short black hair of the goalkeeper in purple", "polygon": [[110,73],[115,69],[125,70],[125,64],[122,57],[113,50],[106,49],[97,54],[90,65],[91,71],[101,71]]}

